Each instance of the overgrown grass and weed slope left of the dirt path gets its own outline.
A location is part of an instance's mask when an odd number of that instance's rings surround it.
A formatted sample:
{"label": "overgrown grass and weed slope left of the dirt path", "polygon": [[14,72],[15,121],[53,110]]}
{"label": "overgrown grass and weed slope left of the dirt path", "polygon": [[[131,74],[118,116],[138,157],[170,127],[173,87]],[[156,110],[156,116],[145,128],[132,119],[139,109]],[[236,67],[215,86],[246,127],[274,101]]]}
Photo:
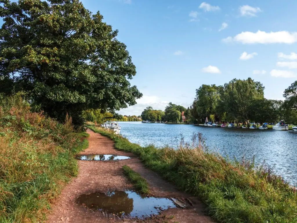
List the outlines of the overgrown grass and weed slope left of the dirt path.
{"label": "overgrown grass and weed slope left of the dirt path", "polygon": [[41,222],[62,187],[78,173],[74,154],[86,133],[30,112],[20,97],[0,97],[0,222]]}

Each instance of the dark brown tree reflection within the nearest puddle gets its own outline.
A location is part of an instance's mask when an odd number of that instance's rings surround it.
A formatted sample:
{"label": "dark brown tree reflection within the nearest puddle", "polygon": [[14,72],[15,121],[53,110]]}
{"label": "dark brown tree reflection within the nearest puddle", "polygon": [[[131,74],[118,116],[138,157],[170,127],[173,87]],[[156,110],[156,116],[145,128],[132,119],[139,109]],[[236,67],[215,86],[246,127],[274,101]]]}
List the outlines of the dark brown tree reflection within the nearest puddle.
{"label": "dark brown tree reflection within the nearest puddle", "polygon": [[125,191],[104,193],[83,194],[78,198],[80,204],[88,208],[103,210],[108,213],[128,215],[133,210],[133,199],[128,197]]}

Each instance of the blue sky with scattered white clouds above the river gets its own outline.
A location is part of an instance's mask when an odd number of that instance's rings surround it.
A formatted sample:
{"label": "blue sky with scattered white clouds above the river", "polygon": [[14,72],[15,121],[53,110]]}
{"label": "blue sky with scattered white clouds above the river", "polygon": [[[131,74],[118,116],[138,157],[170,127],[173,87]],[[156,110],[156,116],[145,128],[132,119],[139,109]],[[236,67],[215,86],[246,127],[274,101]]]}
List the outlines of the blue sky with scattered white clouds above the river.
{"label": "blue sky with scattered white clouds above the river", "polygon": [[282,99],[297,74],[296,0],[83,0],[119,30],[143,93],[120,114],[189,106],[201,84],[251,77]]}

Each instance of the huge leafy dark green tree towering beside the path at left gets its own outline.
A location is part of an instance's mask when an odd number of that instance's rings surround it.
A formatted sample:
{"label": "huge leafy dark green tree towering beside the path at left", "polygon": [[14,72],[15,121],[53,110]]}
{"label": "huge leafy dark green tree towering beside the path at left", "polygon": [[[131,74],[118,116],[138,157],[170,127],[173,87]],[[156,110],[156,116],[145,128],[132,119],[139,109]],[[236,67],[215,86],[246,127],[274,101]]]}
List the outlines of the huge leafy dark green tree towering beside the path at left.
{"label": "huge leafy dark green tree towering beside the path at left", "polygon": [[0,91],[27,93],[32,105],[80,124],[87,109],[119,110],[142,94],[117,30],[78,0],[0,0]]}

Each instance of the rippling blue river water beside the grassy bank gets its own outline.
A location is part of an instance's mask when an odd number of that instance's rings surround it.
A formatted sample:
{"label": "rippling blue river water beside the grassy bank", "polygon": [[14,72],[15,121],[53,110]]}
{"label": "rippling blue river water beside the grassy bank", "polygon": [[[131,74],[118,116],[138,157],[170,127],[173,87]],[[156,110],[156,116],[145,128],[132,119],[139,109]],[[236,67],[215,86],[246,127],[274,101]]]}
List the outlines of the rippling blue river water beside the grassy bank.
{"label": "rippling blue river water beside the grassy bank", "polygon": [[291,185],[297,185],[297,133],[162,123],[120,122],[121,134],[130,142],[157,147],[177,147],[181,134],[191,142],[193,133],[202,133],[206,145],[222,156],[255,158],[256,164],[273,167]]}

